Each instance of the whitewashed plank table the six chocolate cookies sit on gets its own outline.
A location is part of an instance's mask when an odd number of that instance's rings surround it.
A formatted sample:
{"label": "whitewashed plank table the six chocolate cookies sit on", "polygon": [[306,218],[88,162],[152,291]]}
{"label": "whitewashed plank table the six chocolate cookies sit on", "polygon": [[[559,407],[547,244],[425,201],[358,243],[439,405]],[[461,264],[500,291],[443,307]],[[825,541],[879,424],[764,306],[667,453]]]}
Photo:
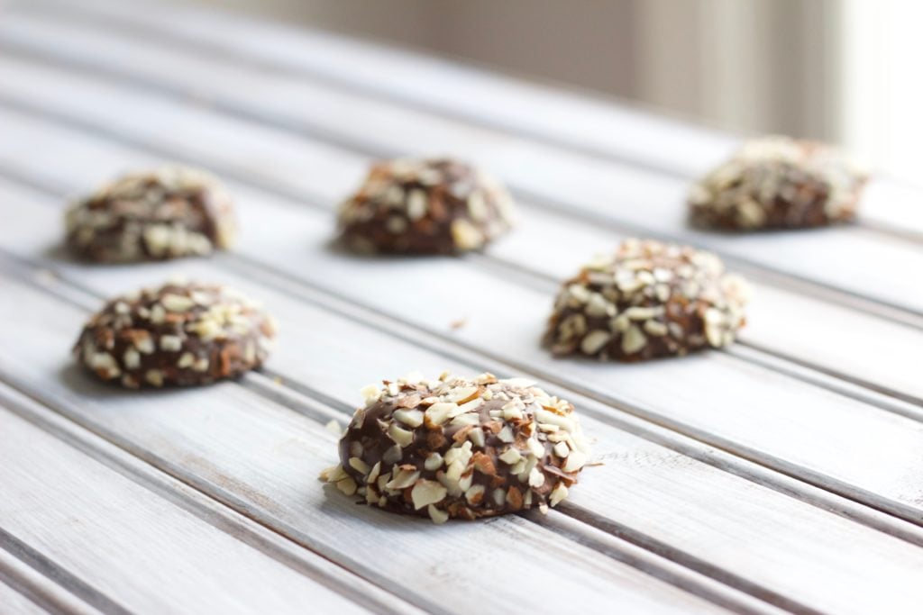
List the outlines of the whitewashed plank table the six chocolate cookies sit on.
{"label": "whitewashed plank table the six chocolate cookies sit on", "polygon": [[[323,32],[120,0],[6,6],[0,612],[921,612],[923,192],[878,177],[861,220],[825,231],[689,230],[689,179],[737,142]],[[405,153],[497,172],[520,228],[458,259],[331,251],[337,199]],[[162,160],[233,188],[234,253],[62,256],[67,195]],[[557,280],[627,234],[747,275],[740,342],[630,366],[539,349]],[[102,297],[180,272],[276,313],[263,373],[123,393],[72,364]],[[325,491],[324,425],[358,389],[443,369],[532,375],[576,403],[604,465],[547,516],[483,523]]]}

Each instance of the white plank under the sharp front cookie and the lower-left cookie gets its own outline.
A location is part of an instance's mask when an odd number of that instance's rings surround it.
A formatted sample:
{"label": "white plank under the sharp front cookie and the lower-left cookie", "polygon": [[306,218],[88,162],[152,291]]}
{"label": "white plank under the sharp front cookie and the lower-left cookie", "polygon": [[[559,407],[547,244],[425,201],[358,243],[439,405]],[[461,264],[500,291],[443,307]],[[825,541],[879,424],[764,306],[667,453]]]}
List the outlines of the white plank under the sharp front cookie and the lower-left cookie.
{"label": "white plank under the sharp front cookie and the lower-left cookie", "polygon": [[[92,382],[65,354],[50,351],[66,347],[85,313],[17,281],[5,285],[16,293],[17,305],[30,306],[18,330],[32,339],[25,354],[3,352],[0,370],[6,377],[28,384],[33,396],[107,440],[236,503],[260,523],[329,551],[325,554],[427,610],[464,612],[479,600],[492,612],[514,604],[538,609],[539,603],[593,611],[607,600],[645,612],[716,610],[519,517],[432,526],[356,506],[318,482],[320,469],[336,457],[335,436],[320,424],[233,383],[126,396]],[[14,308],[3,307],[5,313]],[[491,548],[473,549],[478,545]],[[508,570],[521,571],[515,584],[502,574]],[[551,580],[557,591],[549,596],[541,588]]]}

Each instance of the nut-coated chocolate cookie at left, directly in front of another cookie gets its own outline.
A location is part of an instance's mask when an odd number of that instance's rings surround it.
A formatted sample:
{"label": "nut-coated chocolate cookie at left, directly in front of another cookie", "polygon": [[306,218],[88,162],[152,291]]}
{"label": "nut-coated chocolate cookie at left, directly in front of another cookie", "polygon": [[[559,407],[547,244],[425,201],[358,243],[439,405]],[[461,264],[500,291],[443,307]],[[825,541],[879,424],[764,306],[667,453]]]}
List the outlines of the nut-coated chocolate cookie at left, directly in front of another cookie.
{"label": "nut-coated chocolate cookie at left, directly in front of another cookie", "polygon": [[169,282],[107,302],[74,354],[128,388],[209,384],[259,367],[275,332],[272,317],[235,290]]}

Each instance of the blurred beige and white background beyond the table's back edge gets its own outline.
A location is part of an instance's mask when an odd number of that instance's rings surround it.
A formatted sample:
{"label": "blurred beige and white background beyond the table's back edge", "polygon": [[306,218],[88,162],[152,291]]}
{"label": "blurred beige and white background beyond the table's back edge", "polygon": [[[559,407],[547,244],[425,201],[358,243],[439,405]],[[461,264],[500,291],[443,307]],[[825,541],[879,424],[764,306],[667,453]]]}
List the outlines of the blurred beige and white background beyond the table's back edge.
{"label": "blurred beige and white background beyond the table's back edge", "polygon": [[917,182],[911,0],[190,0],[438,53],[746,133],[832,141]]}

